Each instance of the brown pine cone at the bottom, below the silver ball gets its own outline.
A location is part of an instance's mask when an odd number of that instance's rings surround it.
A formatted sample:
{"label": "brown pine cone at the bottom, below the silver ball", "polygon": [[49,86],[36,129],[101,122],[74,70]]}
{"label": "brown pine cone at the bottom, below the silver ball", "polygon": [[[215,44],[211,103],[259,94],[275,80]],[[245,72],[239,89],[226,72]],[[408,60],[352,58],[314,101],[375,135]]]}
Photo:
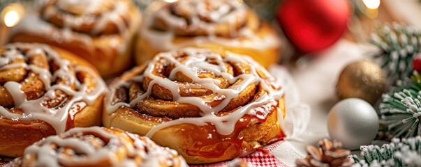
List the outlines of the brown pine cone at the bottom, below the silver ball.
{"label": "brown pine cone at the bottom, below the silver ball", "polygon": [[341,149],[342,143],[339,141],[329,141],[327,138],[318,141],[318,149],[313,145],[307,145],[307,156],[304,159],[295,160],[295,164],[300,166],[352,166],[348,155],[350,150]]}

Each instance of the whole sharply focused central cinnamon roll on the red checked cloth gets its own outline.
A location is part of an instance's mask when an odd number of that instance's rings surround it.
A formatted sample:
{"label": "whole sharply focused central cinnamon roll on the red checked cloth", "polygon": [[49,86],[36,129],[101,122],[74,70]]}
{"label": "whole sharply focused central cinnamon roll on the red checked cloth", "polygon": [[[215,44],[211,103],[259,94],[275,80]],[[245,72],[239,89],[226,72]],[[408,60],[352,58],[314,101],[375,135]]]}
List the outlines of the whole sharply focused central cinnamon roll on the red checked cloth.
{"label": "whole sharply focused central cinnamon roll on the red checked cloth", "polygon": [[162,52],[110,85],[105,127],[146,135],[189,164],[241,157],[283,138],[279,81],[248,56]]}

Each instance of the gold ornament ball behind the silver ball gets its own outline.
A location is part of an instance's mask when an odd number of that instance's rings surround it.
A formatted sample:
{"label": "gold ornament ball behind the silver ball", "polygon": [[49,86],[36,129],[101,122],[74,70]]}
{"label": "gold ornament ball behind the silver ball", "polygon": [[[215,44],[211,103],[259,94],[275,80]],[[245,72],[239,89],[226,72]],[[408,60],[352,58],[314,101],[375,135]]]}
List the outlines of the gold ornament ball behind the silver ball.
{"label": "gold ornament ball behind the silver ball", "polygon": [[348,64],[342,70],[337,84],[337,95],[340,100],[356,97],[376,103],[385,91],[385,74],[376,63],[368,60]]}

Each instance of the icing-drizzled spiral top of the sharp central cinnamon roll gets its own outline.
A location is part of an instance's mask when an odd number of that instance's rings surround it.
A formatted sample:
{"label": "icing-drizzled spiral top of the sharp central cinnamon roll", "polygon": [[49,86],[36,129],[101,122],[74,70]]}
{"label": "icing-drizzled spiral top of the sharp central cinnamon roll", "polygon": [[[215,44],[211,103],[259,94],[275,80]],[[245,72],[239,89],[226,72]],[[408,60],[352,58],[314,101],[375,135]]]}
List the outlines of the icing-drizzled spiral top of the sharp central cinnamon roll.
{"label": "icing-drizzled spiral top of the sharp central cinnamon roll", "polygon": [[149,116],[184,118],[170,124],[212,122],[220,134],[228,135],[245,114],[265,120],[283,95],[279,82],[263,67],[228,51],[169,51],[133,71],[112,90],[108,113],[123,106]]}

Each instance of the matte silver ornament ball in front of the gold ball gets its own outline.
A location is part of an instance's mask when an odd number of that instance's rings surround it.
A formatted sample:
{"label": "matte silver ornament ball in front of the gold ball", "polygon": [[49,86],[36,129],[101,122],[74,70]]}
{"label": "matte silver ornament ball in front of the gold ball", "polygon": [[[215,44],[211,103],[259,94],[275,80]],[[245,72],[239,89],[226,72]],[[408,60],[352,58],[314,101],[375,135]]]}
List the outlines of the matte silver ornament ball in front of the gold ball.
{"label": "matte silver ornament ball in front of the gold ball", "polygon": [[376,110],[368,102],[348,98],[335,104],[327,116],[330,138],[341,141],[344,148],[357,149],[368,145],[378,132]]}

